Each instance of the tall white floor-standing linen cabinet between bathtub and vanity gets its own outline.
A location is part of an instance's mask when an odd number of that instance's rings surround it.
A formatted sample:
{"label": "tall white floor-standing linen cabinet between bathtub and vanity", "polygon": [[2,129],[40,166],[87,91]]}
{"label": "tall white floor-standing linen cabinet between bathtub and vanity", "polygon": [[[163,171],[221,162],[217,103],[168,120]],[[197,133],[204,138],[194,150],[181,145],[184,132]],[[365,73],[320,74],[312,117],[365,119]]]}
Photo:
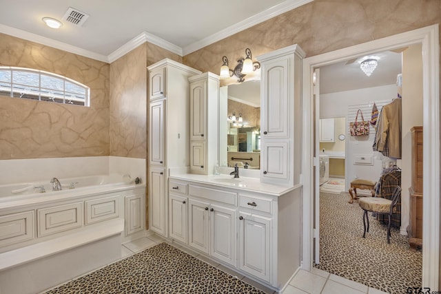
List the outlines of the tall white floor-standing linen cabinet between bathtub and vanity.
{"label": "tall white floor-standing linen cabinet between bathtub and vanity", "polygon": [[163,59],[149,71],[149,224],[168,235],[169,169],[189,166],[189,76],[201,74],[176,61]]}

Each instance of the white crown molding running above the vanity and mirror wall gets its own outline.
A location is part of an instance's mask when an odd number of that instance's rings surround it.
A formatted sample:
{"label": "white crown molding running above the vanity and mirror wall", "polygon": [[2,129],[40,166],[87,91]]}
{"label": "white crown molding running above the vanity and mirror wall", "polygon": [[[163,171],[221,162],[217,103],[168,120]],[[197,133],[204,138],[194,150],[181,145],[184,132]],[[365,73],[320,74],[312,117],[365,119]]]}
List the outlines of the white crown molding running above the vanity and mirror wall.
{"label": "white crown molding running above the vanity and mirror wall", "polygon": [[247,19],[244,19],[243,21],[240,21],[239,23],[236,23],[234,25],[229,26],[228,28],[225,28],[224,30],[220,30],[219,32],[216,32],[216,34],[212,34],[211,36],[207,36],[206,38],[201,39],[200,41],[196,41],[190,45],[187,45],[186,47],[183,48],[183,55],[187,55],[192,52],[195,52],[196,50],[204,48],[207,45],[211,45],[212,43],[225,39],[228,36],[232,36],[233,34],[246,30],[247,28],[251,28],[253,25],[257,25],[258,23],[263,23],[263,21],[272,19],[273,17],[283,14],[289,10],[293,10],[294,8],[303,6],[312,1],[314,0],[284,1],[283,3],[280,3],[276,6],[268,8],[267,10],[264,10],[263,12],[254,15],[253,17],[249,17]]}

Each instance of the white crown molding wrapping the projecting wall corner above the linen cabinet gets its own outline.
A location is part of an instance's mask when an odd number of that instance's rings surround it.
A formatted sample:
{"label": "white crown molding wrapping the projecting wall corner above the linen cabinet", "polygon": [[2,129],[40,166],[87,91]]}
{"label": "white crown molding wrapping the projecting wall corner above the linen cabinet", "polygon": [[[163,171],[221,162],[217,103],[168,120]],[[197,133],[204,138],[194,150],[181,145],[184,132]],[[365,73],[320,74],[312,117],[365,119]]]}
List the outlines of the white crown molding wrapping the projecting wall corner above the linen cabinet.
{"label": "white crown molding wrapping the projecting wall corner above the linen cabinet", "polygon": [[182,56],[181,47],[174,45],[173,43],[170,43],[168,41],[165,41],[164,39],[161,39],[158,36],[155,36],[154,34],[150,34],[148,32],[142,32],[138,36],[135,36],[132,40],[122,45],[120,48],[116,49],[109,56],[107,56],[108,62],[112,63],[116,61],[116,59],[119,59],[121,56],[124,56],[125,54],[134,50],[136,47],[138,47],[139,45],[145,42],[158,45],[159,47],[164,48],[165,50],[169,50],[170,52]]}

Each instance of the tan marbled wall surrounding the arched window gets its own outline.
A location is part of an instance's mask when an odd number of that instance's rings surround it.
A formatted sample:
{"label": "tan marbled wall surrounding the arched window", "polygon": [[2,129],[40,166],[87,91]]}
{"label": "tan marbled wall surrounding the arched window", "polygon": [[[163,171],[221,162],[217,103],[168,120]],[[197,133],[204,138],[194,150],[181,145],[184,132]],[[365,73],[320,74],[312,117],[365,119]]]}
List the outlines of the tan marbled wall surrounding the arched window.
{"label": "tan marbled wall surrounding the arched window", "polygon": [[109,155],[109,65],[0,34],[0,65],[90,87],[90,107],[0,96],[0,159]]}

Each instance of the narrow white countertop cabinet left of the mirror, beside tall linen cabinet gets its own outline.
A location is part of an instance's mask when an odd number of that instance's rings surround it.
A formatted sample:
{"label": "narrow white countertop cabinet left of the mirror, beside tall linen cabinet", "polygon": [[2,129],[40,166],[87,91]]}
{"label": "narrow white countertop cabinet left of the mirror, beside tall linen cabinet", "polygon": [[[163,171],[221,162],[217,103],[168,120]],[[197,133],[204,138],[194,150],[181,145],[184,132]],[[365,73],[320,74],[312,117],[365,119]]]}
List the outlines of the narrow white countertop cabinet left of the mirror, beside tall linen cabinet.
{"label": "narrow white countertop cabinet left of the mirror, beside tall linen cabinet", "polygon": [[190,83],[190,172],[213,174],[218,156],[219,76],[205,72],[189,77],[188,81]]}

